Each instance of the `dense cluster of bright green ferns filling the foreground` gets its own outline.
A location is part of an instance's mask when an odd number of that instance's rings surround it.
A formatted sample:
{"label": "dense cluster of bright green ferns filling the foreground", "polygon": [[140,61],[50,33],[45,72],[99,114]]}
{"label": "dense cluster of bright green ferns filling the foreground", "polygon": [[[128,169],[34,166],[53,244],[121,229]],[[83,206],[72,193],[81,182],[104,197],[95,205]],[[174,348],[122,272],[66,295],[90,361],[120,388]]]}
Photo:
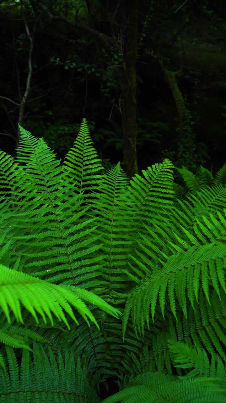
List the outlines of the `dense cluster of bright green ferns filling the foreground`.
{"label": "dense cluster of bright green ferns filling the foreground", "polygon": [[224,169],[194,187],[183,168],[185,195],[168,159],[103,174],[85,119],[62,165],[20,129],[0,152],[0,401],[225,402]]}

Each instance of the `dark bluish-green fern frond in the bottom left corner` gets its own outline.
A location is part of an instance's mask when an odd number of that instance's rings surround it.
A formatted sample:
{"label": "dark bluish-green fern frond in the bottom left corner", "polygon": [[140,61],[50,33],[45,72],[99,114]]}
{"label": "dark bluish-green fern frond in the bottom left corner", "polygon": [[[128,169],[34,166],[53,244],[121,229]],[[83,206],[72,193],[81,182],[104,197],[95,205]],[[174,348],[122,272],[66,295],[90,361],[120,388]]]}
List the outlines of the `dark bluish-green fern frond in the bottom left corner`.
{"label": "dark bluish-green fern frond in the bottom left corner", "polygon": [[[87,368],[81,366],[80,358],[74,360],[72,351],[66,349],[63,359],[58,349],[56,361],[48,347],[48,356],[43,347],[33,343],[33,361],[30,353],[23,351],[20,364],[12,347],[6,346],[9,371],[0,371],[1,401],[10,397],[12,403],[60,403],[72,401],[80,403],[83,399],[100,403],[97,392],[90,388],[90,375]],[[45,374],[45,376],[43,376]]]}

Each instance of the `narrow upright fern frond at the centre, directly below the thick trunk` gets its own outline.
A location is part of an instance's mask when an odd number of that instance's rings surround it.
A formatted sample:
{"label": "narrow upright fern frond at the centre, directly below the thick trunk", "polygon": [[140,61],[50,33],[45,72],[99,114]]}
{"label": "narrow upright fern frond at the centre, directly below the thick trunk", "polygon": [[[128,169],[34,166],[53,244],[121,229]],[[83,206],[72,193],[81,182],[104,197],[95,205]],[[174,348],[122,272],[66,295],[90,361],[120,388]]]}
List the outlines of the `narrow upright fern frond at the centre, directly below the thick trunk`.
{"label": "narrow upright fern frond at the centre, directly below the thick trunk", "polygon": [[[128,253],[131,253],[136,242],[133,210],[130,200],[125,198],[128,183],[129,178],[118,163],[103,175],[101,189],[95,194],[96,200],[92,202],[92,212],[89,213],[90,216],[99,215],[96,221],[99,226],[95,229],[95,234],[103,242],[101,249],[105,254],[105,265],[102,268],[102,277],[109,297],[115,288],[125,287],[127,276],[123,274],[123,268],[127,264]],[[116,303],[115,298],[108,301]]]}

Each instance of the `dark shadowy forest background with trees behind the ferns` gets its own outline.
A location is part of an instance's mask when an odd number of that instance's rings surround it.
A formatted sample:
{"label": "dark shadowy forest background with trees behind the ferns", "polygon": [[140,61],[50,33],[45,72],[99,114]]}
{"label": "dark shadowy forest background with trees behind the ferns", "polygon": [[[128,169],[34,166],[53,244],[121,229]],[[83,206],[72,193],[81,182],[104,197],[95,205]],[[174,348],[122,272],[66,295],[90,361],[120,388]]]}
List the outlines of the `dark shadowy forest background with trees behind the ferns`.
{"label": "dark shadowy forest background with trees behind the ferns", "polygon": [[[225,160],[224,0],[0,0],[0,149],[18,123],[64,159],[82,118],[105,168]],[[176,180],[180,181],[179,173]]]}

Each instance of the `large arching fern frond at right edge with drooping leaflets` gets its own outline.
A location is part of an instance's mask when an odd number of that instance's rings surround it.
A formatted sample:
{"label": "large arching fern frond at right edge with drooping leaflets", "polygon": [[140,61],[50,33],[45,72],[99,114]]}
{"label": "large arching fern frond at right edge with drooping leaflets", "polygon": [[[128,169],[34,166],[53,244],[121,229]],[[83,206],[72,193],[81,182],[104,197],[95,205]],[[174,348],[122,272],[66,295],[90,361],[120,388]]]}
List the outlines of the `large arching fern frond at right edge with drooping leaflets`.
{"label": "large arching fern frond at right edge with drooping leaflets", "polygon": [[[149,329],[149,310],[151,305],[152,321],[154,322],[154,313],[156,310],[157,297],[159,294],[159,303],[164,317],[164,307],[166,297],[169,299],[171,312],[176,315],[176,300],[182,308],[185,318],[187,318],[187,298],[191,306],[194,308],[194,297],[198,301],[199,281],[201,279],[202,289],[205,297],[210,304],[209,285],[211,271],[211,280],[214,289],[219,295],[218,281],[226,293],[224,284],[224,276],[222,274],[222,265],[226,254],[226,245],[213,246],[207,244],[201,247],[190,247],[183,253],[176,253],[168,258],[167,262],[162,263],[162,268],[155,270],[146,276],[146,280],[140,283],[140,287],[136,287],[132,291],[131,315],[133,318],[134,328],[144,329],[144,320]],[[216,267],[216,269],[214,269]],[[211,283],[211,285],[212,285]],[[168,287],[168,295],[166,289]],[[187,288],[187,292],[185,292]],[[139,297],[137,298],[137,295]],[[137,333],[136,333],[137,335]]]}

